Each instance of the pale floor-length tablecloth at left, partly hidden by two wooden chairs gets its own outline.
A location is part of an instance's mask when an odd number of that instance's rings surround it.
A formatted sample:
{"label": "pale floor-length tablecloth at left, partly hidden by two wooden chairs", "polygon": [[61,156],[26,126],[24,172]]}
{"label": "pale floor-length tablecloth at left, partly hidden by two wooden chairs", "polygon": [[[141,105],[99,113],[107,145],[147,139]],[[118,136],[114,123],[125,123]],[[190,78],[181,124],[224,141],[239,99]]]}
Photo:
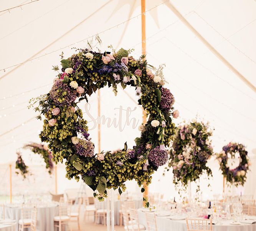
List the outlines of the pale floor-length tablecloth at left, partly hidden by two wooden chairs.
{"label": "pale floor-length tablecloth at left, partly hidden by two wooden chairs", "polygon": [[[58,215],[59,209],[57,205],[48,207],[37,207],[37,224],[38,231],[54,231],[54,216]],[[21,218],[21,206],[5,207],[5,218],[17,221],[16,230],[18,230],[18,220]]]}

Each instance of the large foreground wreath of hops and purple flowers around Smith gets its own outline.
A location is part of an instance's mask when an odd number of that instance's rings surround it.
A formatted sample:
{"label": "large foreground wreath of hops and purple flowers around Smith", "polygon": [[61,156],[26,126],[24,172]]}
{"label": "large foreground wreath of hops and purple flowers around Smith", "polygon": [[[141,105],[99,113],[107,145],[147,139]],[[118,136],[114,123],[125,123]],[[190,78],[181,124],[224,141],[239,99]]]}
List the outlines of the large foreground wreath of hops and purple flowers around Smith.
{"label": "large foreground wreath of hops and purple flowers around Smith", "polygon": [[[41,114],[45,116],[40,138],[48,143],[53,160],[57,163],[66,159],[66,177],[83,179],[94,190],[94,197],[102,201],[107,196],[106,189],[118,189],[121,194],[127,180],[135,179],[139,186],[144,182],[150,184],[153,172],[167,162],[165,146],[175,134],[172,118],[178,117],[178,111],[173,110],[172,93],[163,87],[163,65],[156,70],[144,55],[138,60],[130,56],[132,50],[112,49],[112,54],[91,49],[76,51],[61,60],[61,72],[50,92],[32,99],[31,105],[39,101],[35,107],[40,112],[38,119]],[[59,72],[58,66],[53,69]],[[104,86],[112,86],[117,94],[118,84],[123,89],[135,88],[140,96],[138,104],[145,109],[148,121],[140,125],[141,137],[135,138],[132,149],[125,143],[121,151],[95,154],[87,121],[78,104],[83,99],[88,101],[93,92]]]}

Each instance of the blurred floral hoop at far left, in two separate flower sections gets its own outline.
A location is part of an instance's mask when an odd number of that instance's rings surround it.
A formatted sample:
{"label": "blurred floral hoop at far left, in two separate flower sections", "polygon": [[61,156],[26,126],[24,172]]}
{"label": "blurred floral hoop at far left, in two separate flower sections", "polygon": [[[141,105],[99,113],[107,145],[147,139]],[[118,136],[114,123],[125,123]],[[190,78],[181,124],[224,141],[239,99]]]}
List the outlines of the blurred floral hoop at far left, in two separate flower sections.
{"label": "blurred floral hoop at far left, in two separate flower sections", "polygon": [[[30,149],[33,153],[39,154],[45,161],[45,168],[48,170],[49,174],[52,174],[53,171],[53,162],[51,151],[48,149],[48,146],[43,143],[29,143],[23,146],[24,149]],[[28,166],[24,163],[20,151],[17,152],[18,158],[16,161],[16,169],[20,170],[21,175],[26,178],[26,175],[29,173]],[[18,174],[18,172],[16,172]]]}

